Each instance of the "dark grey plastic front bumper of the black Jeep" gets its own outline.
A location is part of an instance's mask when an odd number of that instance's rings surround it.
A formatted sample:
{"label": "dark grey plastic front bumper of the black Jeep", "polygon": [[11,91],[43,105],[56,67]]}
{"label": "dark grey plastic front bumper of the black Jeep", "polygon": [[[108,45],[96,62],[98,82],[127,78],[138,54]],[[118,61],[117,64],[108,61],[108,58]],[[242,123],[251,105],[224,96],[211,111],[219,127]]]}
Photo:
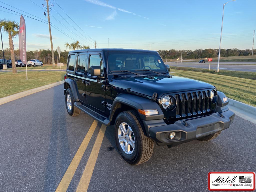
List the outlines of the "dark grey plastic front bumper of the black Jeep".
{"label": "dark grey plastic front bumper of the black Jeep", "polygon": [[[158,145],[173,147],[227,129],[233,123],[234,115],[228,110],[197,119],[177,121],[170,125],[148,127],[148,134]],[[169,139],[171,132],[176,133],[172,140]]]}

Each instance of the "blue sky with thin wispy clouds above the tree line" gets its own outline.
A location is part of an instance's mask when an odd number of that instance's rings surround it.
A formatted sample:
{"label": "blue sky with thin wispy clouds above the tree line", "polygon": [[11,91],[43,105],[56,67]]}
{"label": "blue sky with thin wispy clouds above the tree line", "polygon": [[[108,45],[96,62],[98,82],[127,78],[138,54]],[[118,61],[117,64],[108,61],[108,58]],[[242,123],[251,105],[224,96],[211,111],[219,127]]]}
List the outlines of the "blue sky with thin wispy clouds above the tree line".
{"label": "blue sky with thin wispy clouds above the tree line", "polygon": [[[49,0],[49,2],[54,4],[54,8],[50,11],[51,23],[69,36],[52,27],[54,49],[60,46],[61,50],[66,50],[64,43],[72,42],[73,39],[91,48],[95,40],[97,47],[107,48],[109,38],[109,48],[150,49],[151,47],[151,50],[195,50],[219,47],[222,8],[227,0],[55,0],[55,2]],[[45,3],[44,0],[0,0],[0,5],[3,7],[48,22],[43,14],[46,11],[43,10],[42,3]],[[1,19],[13,19],[19,22],[20,14],[3,7],[0,7]],[[253,14],[255,8],[255,0],[237,0],[225,5],[222,48],[252,48],[253,30],[256,29]],[[50,49],[48,24],[27,17],[25,21],[27,50]],[[8,48],[8,36],[6,33],[2,35],[4,48]],[[15,49],[18,48],[18,37],[14,39],[14,46]]]}

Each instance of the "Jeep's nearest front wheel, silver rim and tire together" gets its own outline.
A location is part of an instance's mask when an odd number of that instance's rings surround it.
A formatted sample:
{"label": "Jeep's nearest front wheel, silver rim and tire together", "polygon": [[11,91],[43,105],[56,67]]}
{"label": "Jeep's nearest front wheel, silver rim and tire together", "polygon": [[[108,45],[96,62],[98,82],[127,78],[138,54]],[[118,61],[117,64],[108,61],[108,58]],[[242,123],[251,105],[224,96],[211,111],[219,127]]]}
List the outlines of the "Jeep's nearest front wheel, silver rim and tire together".
{"label": "Jeep's nearest front wheel, silver rim and tire together", "polygon": [[115,142],[123,159],[138,165],[150,159],[154,142],[143,132],[143,123],[136,111],[121,112],[115,121]]}

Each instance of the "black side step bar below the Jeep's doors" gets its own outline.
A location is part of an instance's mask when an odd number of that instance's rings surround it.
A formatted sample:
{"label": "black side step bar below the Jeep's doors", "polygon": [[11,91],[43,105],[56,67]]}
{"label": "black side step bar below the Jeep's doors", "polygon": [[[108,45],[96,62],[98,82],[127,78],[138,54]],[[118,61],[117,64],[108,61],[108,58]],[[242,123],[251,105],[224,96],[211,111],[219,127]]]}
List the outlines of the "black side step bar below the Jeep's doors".
{"label": "black side step bar below the Jeep's doors", "polygon": [[110,121],[108,118],[102,116],[101,114],[94,112],[93,110],[89,109],[88,107],[82,105],[80,102],[75,101],[74,105],[79,108],[81,111],[83,111],[84,113],[88,114],[89,116],[91,116],[93,119],[99,121],[100,123],[102,123],[103,125],[108,126],[110,124]]}

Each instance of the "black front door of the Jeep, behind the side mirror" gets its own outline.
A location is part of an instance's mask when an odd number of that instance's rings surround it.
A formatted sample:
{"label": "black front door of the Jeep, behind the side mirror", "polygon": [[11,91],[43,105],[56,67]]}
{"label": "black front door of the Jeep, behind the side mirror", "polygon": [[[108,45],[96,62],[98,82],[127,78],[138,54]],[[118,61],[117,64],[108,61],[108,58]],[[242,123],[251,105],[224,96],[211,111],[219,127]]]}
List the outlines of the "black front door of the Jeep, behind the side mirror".
{"label": "black front door of the Jeep, behind the side mirror", "polygon": [[91,76],[90,67],[101,66],[101,76],[104,76],[104,67],[102,56],[99,53],[89,54],[88,56],[88,68],[87,78],[85,81],[86,101],[88,105],[98,109],[101,112],[105,111],[105,80],[97,79],[95,76]]}

